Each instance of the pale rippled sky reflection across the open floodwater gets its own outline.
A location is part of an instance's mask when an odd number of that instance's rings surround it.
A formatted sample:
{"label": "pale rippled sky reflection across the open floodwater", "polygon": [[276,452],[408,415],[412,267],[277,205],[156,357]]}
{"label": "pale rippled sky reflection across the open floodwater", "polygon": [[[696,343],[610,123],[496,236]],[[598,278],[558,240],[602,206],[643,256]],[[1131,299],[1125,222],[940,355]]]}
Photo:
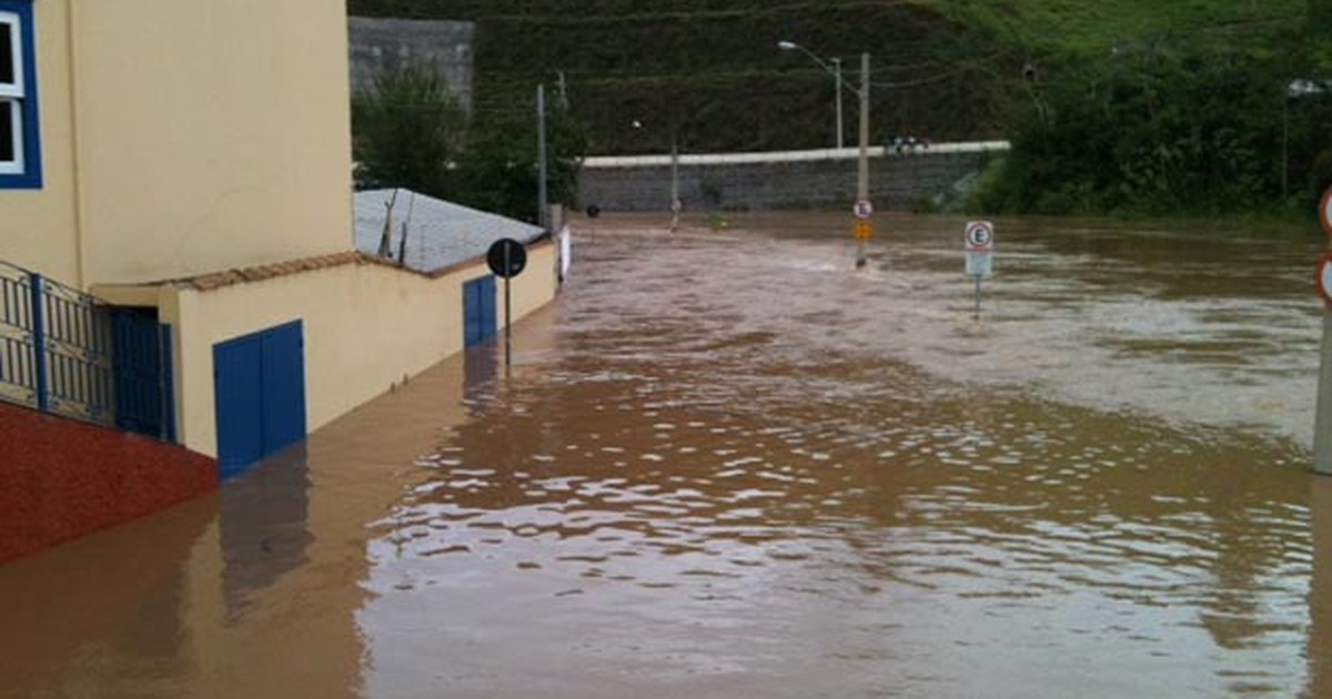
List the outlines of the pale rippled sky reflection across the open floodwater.
{"label": "pale rippled sky reflection across the open floodwater", "polygon": [[370,694],[1316,691],[1307,260],[1244,256],[1221,304],[1014,232],[978,325],[960,234],[903,233],[848,274],[815,230],[597,230],[555,358],[382,523]]}

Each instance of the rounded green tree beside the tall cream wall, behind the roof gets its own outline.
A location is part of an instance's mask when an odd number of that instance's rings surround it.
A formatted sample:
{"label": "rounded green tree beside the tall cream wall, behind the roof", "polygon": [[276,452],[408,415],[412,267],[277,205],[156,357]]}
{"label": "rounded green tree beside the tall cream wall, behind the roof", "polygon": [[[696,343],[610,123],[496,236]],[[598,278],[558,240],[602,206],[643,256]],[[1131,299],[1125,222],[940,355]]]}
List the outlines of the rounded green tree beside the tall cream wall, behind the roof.
{"label": "rounded green tree beside the tall cream wall, behind the roof", "polygon": [[466,138],[466,113],[436,71],[380,73],[352,100],[352,152],[360,188],[402,186],[445,198]]}

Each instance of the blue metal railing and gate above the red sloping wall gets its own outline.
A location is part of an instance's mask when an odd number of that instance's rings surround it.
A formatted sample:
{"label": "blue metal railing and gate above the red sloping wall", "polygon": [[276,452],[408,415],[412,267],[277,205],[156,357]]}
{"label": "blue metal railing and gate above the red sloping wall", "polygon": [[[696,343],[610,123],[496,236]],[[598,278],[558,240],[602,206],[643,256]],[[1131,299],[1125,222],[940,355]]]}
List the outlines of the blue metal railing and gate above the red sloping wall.
{"label": "blue metal railing and gate above the red sloping wall", "polygon": [[0,399],[176,441],[170,326],[0,262]]}

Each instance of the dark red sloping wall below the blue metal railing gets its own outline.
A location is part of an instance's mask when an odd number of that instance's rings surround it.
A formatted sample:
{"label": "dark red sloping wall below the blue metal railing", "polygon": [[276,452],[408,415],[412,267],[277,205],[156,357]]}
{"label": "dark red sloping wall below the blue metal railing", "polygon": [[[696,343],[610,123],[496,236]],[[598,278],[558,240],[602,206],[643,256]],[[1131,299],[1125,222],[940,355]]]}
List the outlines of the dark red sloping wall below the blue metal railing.
{"label": "dark red sloping wall below the blue metal railing", "polygon": [[217,462],[0,402],[0,562],[217,487]]}

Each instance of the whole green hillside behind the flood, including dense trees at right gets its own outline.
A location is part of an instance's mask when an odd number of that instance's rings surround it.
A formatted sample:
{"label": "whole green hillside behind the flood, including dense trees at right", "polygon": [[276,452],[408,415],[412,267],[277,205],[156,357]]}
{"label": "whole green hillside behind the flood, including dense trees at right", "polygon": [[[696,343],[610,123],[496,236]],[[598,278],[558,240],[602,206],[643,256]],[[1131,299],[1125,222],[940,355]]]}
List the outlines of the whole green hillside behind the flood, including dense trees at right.
{"label": "whole green hillside behind the flood, including dense trees at right", "polygon": [[[526,121],[545,84],[587,126],[590,154],[662,153],[673,138],[683,152],[830,145],[834,81],[778,49],[789,40],[840,59],[851,87],[860,53],[871,55],[875,142],[1012,140],[976,200],[987,209],[1299,210],[1332,182],[1332,0],[349,0],[349,9],[476,21],[476,116]],[[1288,97],[1300,77],[1328,89]],[[854,144],[856,100],[843,96]]]}

